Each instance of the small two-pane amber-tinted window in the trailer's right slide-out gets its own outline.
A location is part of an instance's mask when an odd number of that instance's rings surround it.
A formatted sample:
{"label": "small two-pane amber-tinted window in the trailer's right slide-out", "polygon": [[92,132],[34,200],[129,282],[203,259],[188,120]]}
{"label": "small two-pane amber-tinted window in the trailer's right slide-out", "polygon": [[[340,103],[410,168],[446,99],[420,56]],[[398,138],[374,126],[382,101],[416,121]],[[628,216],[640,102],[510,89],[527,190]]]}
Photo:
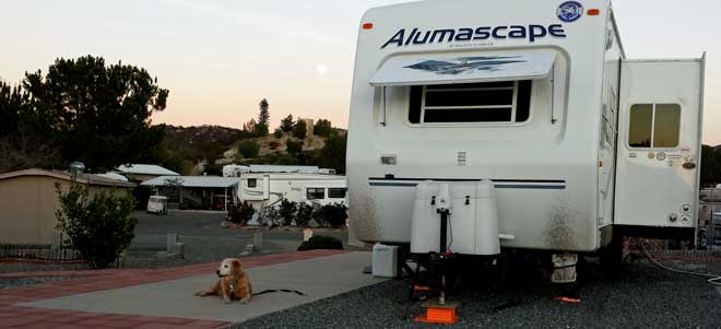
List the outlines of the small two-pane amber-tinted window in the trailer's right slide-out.
{"label": "small two-pane amber-tinted window in the trailer's right slide-out", "polygon": [[630,108],[628,145],[676,148],[681,127],[678,104],[635,104]]}

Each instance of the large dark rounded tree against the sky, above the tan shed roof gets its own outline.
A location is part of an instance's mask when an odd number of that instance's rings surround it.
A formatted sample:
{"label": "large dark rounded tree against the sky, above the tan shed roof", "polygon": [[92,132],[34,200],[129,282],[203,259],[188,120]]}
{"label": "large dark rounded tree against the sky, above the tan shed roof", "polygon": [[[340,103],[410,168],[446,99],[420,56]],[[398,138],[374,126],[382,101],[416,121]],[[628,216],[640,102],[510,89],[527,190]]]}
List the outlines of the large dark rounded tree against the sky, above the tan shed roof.
{"label": "large dark rounded tree against the sky, above the tan shed roof", "polygon": [[106,66],[93,56],[60,58],[45,75],[26,73],[22,87],[36,125],[51,127],[47,142],[62,162],[80,160],[90,172],[105,172],[154,157],[163,141],[164,128],[151,126],[151,115],[165,109],[169,92],[142,68]]}

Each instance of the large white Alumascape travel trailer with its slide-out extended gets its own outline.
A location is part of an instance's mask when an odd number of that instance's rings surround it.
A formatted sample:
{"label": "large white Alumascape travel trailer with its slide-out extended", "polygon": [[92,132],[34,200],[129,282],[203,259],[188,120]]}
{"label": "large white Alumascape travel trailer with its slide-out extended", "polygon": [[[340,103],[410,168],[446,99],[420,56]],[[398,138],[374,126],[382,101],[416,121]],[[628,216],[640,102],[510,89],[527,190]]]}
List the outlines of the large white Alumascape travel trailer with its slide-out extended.
{"label": "large white Alumascape travel trailer with its slide-out extended", "polygon": [[423,1],[361,23],[347,145],[359,240],[427,243],[439,234],[415,232],[436,230],[423,216],[444,197],[465,254],[694,239],[705,58],[626,59],[608,0]]}

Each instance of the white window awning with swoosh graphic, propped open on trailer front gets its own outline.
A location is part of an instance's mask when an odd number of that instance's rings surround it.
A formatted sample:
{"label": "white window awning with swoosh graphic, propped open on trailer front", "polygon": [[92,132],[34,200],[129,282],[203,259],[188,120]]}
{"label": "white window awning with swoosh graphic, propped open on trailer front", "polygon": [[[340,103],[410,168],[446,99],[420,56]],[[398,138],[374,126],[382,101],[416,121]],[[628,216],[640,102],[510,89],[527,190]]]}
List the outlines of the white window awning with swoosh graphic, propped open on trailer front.
{"label": "white window awning with swoosh graphic, propped open on trailer front", "polygon": [[548,77],[554,50],[523,50],[485,55],[404,55],[388,59],[370,78],[370,85],[428,85],[536,80]]}

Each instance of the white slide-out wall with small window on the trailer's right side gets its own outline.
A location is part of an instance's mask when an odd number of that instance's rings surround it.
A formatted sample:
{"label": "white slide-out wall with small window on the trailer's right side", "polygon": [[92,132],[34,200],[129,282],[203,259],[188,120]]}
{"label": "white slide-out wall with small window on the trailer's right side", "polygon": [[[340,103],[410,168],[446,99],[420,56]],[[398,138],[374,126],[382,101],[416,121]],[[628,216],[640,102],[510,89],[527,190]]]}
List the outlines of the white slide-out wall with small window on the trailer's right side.
{"label": "white slide-out wall with small window on the trailer's right side", "polygon": [[696,227],[704,62],[623,62],[614,224]]}

